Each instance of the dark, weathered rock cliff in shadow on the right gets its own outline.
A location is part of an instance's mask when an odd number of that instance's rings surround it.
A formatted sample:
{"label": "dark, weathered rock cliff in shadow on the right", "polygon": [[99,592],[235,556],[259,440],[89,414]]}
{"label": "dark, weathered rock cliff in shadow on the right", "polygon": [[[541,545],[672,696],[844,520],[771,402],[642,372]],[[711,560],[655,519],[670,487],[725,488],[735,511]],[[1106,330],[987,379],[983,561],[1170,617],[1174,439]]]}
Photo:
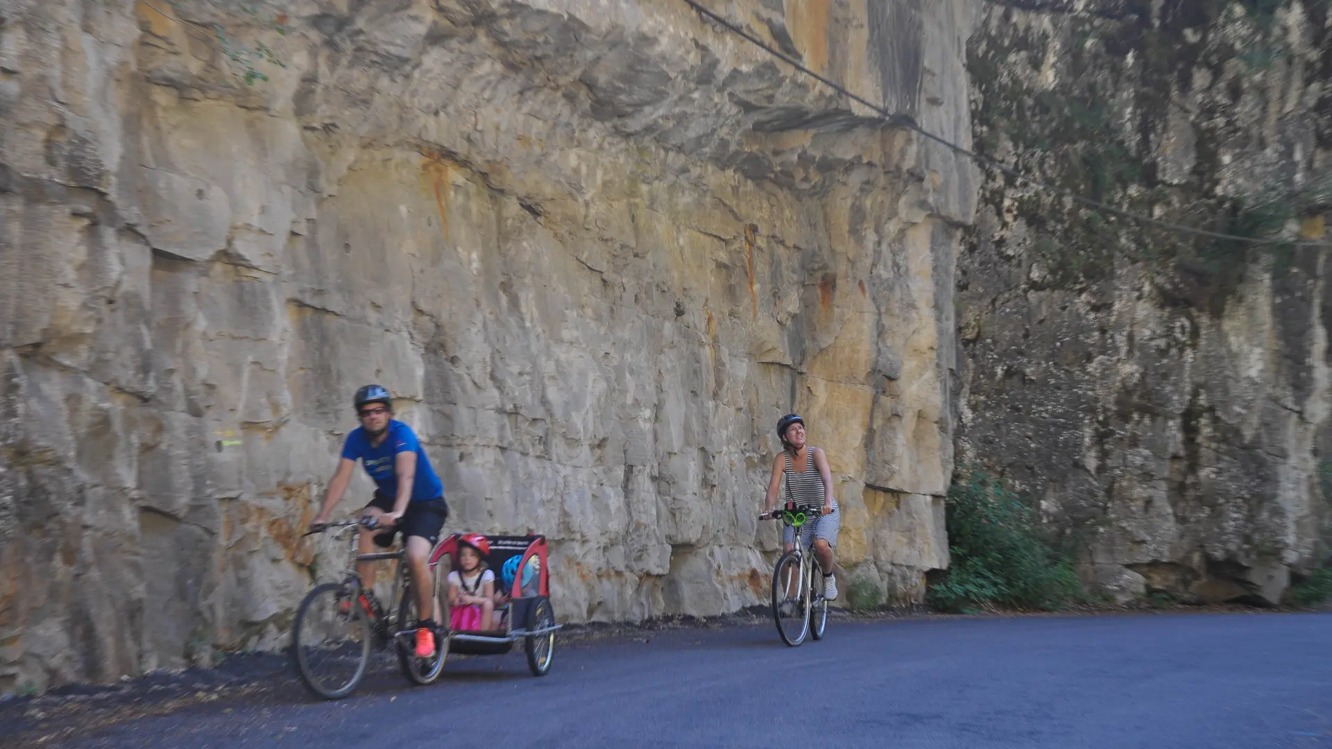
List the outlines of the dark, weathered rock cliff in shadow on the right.
{"label": "dark, weathered rock cliff in shadow on the right", "polygon": [[[994,3],[978,147],[1155,217],[1325,241],[1313,1]],[[1106,217],[1002,176],[959,260],[962,457],[1040,500],[1119,597],[1280,600],[1327,553],[1327,247]]]}

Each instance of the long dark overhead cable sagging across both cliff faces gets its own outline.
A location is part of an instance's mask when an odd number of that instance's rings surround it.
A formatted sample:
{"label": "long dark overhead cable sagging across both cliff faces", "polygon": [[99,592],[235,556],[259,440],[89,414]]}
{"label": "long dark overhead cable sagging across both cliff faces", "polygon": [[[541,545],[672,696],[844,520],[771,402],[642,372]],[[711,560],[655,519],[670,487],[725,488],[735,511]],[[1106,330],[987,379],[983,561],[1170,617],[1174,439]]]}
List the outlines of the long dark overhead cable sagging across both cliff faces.
{"label": "long dark overhead cable sagging across both cliff faces", "polygon": [[1296,247],[1328,247],[1328,244],[1329,244],[1329,243],[1307,241],[1307,240],[1287,241],[1287,240],[1279,240],[1279,239],[1245,237],[1245,236],[1241,236],[1241,235],[1231,235],[1231,233],[1225,233],[1225,232],[1213,232],[1211,229],[1203,229],[1203,228],[1199,228],[1199,227],[1189,227],[1187,224],[1177,224],[1175,221],[1166,221],[1166,220],[1162,220],[1162,219],[1155,219],[1152,216],[1143,216],[1142,213],[1134,213],[1134,212],[1130,212],[1130,211],[1124,211],[1122,208],[1116,208],[1114,205],[1110,205],[1108,203],[1104,203],[1102,200],[1096,200],[1094,197],[1087,197],[1087,196],[1079,195],[1079,193],[1076,193],[1076,192],[1074,192],[1071,189],[1062,188],[1062,187],[1059,187],[1056,184],[1051,184],[1051,183],[1047,183],[1044,180],[1039,180],[1036,177],[1031,177],[1031,176],[1023,175],[1022,172],[1019,172],[1018,169],[1015,169],[1015,168],[1012,168],[1012,167],[1010,167],[1007,164],[1004,164],[1003,161],[998,161],[998,160],[991,159],[990,156],[986,156],[983,153],[976,153],[975,151],[971,151],[968,148],[958,145],[958,144],[955,144],[955,143],[952,143],[952,141],[950,141],[950,140],[947,140],[944,137],[936,136],[936,135],[926,131],[924,128],[922,128],[920,125],[918,125],[914,119],[907,117],[906,115],[899,115],[899,113],[895,113],[895,112],[888,112],[882,104],[874,104],[872,101],[864,99],[863,96],[859,96],[858,93],[847,91],[840,84],[834,83],[834,81],[829,80],[827,77],[825,77],[825,76],[822,76],[822,75],[811,71],[810,68],[807,68],[799,60],[795,60],[794,57],[791,57],[791,56],[781,52],[779,49],[775,49],[773,45],[767,44],[766,41],[763,41],[762,39],[759,39],[758,36],[755,36],[750,31],[745,29],[743,27],[737,25],[735,23],[725,19],[723,16],[719,16],[718,13],[715,13],[713,9],[707,8],[702,3],[698,3],[697,0],[682,0],[682,1],[686,5],[689,5],[690,8],[693,8],[694,11],[697,11],[699,15],[705,16],[706,19],[709,19],[713,23],[715,23],[717,25],[725,28],[726,31],[729,31],[729,32],[739,36],[741,39],[745,39],[750,44],[754,44],[759,49],[767,52],[769,55],[777,57],[778,60],[782,60],[787,65],[791,65],[797,71],[799,71],[799,72],[802,72],[802,73],[813,77],[814,80],[822,83],[823,85],[831,88],[832,91],[840,93],[842,96],[846,96],[847,99],[850,99],[850,100],[852,100],[852,101],[855,101],[858,104],[863,104],[868,109],[879,113],[879,116],[882,116],[888,124],[892,124],[892,125],[896,125],[896,127],[902,127],[902,128],[906,128],[906,129],[912,131],[915,133],[919,133],[922,137],[932,140],[932,141],[935,141],[935,143],[938,143],[938,144],[948,148],[954,153],[966,156],[967,159],[971,159],[972,161],[975,161],[978,164],[983,164],[983,165],[990,167],[992,169],[998,169],[999,172],[1003,172],[1004,175],[1008,175],[1010,177],[1014,177],[1015,180],[1027,183],[1031,187],[1036,187],[1036,188],[1040,188],[1040,189],[1044,189],[1044,191],[1048,191],[1048,192],[1054,192],[1056,195],[1064,196],[1064,197],[1067,197],[1070,200],[1074,200],[1074,201],[1080,203],[1083,205],[1087,205],[1090,208],[1095,208],[1096,211],[1100,211],[1102,213],[1108,213],[1111,216],[1118,216],[1120,219],[1127,219],[1130,221],[1136,221],[1139,224],[1147,224],[1147,225],[1158,227],[1158,228],[1162,228],[1162,229],[1169,229],[1172,232],[1183,232],[1183,233],[1201,236],[1201,237],[1211,237],[1211,239],[1217,239],[1217,240],[1231,240],[1231,241],[1248,243],[1248,244],[1255,244],[1255,245],[1285,244],[1285,245],[1296,245]]}

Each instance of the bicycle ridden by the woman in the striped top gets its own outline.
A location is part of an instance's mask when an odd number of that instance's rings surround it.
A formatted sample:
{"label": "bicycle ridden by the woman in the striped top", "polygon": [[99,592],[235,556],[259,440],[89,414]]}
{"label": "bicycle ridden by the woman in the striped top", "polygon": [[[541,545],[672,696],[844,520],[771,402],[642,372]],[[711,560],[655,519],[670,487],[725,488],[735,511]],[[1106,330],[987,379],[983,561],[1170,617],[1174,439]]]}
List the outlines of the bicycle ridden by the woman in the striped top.
{"label": "bicycle ridden by the woman in the striped top", "polygon": [[795,502],[786,502],[785,508],[761,514],[759,518],[781,520],[783,525],[795,529],[795,548],[782,554],[773,568],[773,620],[777,621],[777,633],[782,636],[782,642],[793,648],[805,642],[809,634],[822,640],[829,624],[829,602],[823,597],[825,576],[814,557],[814,540],[810,538],[810,546],[801,540],[801,526],[810,520],[806,510]]}

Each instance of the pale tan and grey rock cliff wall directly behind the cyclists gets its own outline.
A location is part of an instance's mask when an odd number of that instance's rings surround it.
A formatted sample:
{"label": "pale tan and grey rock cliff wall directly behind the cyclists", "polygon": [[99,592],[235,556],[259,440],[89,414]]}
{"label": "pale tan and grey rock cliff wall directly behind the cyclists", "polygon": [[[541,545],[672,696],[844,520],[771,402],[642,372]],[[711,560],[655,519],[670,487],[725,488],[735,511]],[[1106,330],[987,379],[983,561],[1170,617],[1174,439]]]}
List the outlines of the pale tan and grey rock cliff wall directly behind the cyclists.
{"label": "pale tan and grey rock cliff wall directly behind the cyclists", "polygon": [[[970,141],[970,0],[715,5]],[[566,621],[761,601],[793,409],[852,576],[947,565],[966,163],[677,0],[238,8],[0,7],[0,690],[278,645],[368,381]]]}

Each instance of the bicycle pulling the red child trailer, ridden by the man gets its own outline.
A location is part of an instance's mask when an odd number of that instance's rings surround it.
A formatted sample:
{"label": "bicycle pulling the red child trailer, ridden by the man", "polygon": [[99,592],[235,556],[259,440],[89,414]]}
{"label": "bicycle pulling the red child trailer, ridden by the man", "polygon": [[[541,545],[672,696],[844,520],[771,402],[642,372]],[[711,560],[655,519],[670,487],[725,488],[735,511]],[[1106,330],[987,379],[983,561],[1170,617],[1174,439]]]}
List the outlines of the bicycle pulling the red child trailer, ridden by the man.
{"label": "bicycle pulling the red child trailer, ridden by the man", "polygon": [[[402,549],[358,554],[357,534],[349,529],[364,526],[373,530],[374,518],[341,520],[312,528],[305,536],[332,530],[350,534],[352,564],[341,582],[316,585],[296,613],[292,633],[292,654],[301,681],[314,694],[325,700],[346,697],[365,676],[372,649],[382,650],[392,642],[397,649],[398,666],[412,684],[430,684],[444,670],[449,654],[449,638],[436,637],[436,653],[429,658],[416,654],[416,625],[418,616],[416,593],[412,589],[412,570]],[[361,582],[356,562],[397,560],[389,609],[382,610],[373,594]],[[432,569],[434,565],[430,565]],[[436,588],[436,598],[440,597]],[[396,602],[396,605],[394,605]],[[441,605],[441,604],[437,604]],[[441,605],[442,610],[442,605]]]}

